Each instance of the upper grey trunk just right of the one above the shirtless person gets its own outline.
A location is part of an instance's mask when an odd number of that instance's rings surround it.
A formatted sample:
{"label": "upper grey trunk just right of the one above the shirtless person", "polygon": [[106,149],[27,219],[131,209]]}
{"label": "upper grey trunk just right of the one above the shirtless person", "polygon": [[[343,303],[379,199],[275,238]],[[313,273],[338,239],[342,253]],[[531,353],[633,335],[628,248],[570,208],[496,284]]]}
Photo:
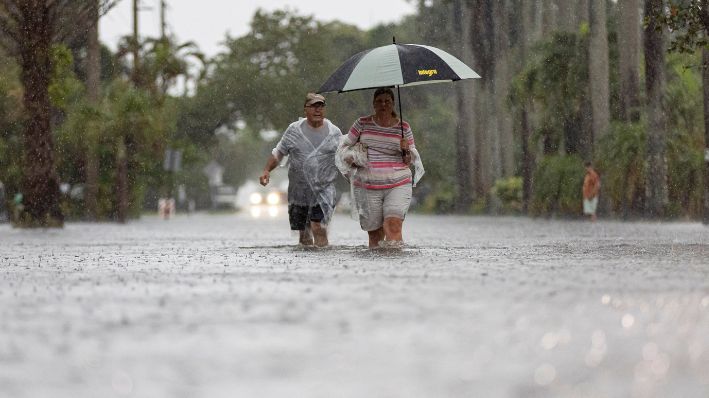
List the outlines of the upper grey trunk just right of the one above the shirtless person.
{"label": "upper grey trunk just right of the one above the shirtless person", "polygon": [[640,120],[640,4],[619,0],[618,63],[620,114],[629,122]]}

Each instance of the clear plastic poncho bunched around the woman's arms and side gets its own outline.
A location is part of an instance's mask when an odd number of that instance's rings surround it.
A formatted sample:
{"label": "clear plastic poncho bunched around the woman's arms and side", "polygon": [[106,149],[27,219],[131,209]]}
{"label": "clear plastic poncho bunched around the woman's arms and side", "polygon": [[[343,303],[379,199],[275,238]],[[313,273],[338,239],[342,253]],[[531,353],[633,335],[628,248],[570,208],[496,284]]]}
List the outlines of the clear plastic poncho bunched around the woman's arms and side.
{"label": "clear plastic poncho bunched around the woman's arms and side", "polygon": [[[421,177],[423,177],[426,170],[423,168],[423,162],[421,161],[421,155],[416,150],[415,147],[411,149],[411,163],[414,166],[413,172],[413,186],[418,184]],[[352,164],[350,165],[345,159],[351,157]],[[350,142],[346,135],[340,138],[340,143],[337,146],[337,154],[335,155],[335,164],[340,173],[349,181],[350,183],[350,198],[352,198],[352,207],[350,216],[358,220],[360,216],[365,218],[369,217],[369,200],[362,195],[367,195],[366,189],[357,190],[355,189],[355,181],[357,180],[357,173],[367,172],[369,167],[369,160],[367,159],[367,147],[361,143],[356,142],[354,145],[350,146]]]}

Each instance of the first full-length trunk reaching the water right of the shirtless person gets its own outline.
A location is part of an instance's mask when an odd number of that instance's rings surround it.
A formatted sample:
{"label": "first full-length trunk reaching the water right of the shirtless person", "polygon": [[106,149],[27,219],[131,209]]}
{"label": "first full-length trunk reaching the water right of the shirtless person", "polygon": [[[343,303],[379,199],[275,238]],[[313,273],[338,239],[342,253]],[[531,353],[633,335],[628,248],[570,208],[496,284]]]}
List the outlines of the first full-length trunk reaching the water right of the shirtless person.
{"label": "first full-length trunk reaching the water right of the shirtless person", "polygon": [[[645,0],[645,15],[662,7],[662,0]],[[664,31],[656,30],[650,18],[645,27],[645,86],[647,92],[647,170],[645,172],[645,214],[663,217],[668,202],[665,160],[667,117],[664,110],[665,48]]]}

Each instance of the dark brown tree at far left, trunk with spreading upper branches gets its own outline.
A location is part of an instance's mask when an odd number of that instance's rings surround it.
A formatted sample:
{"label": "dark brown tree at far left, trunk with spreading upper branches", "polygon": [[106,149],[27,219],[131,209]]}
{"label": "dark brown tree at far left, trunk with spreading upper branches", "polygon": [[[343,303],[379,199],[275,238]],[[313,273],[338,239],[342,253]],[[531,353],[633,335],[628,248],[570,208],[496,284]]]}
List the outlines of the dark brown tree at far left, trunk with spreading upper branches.
{"label": "dark brown tree at far left, trunk with spreading upper branches", "polygon": [[[50,126],[51,49],[77,33],[76,23],[66,21],[87,21],[94,4],[92,0],[0,0],[0,45],[17,58],[24,86],[22,226],[64,224]],[[112,4],[101,1],[104,10]]]}

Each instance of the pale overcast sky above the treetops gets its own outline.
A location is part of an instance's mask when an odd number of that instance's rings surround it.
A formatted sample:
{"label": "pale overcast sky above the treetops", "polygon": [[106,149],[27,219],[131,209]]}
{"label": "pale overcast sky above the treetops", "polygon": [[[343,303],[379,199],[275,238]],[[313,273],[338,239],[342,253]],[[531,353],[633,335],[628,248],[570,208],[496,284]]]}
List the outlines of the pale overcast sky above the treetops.
{"label": "pale overcast sky above the treetops", "polygon": [[[340,20],[362,29],[382,22],[398,21],[413,14],[415,6],[406,0],[167,0],[168,31],[178,41],[194,41],[207,55],[222,50],[220,43],[227,32],[239,37],[246,34],[254,12],[289,7],[302,15],[314,15],[321,21]],[[101,40],[115,49],[121,36],[132,33],[132,0],[120,0],[101,19]],[[141,0],[140,35],[158,36],[160,31],[159,0]]]}

